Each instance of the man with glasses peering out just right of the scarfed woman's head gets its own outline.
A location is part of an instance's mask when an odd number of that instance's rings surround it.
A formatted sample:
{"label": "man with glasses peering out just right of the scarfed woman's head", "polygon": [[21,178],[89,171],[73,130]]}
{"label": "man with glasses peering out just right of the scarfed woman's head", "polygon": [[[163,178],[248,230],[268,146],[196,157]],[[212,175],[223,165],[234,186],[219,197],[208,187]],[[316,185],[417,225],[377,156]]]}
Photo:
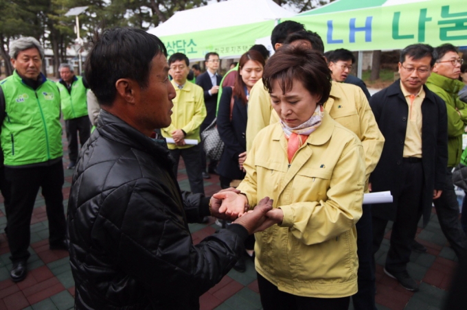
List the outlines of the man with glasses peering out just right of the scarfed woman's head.
{"label": "man with glasses peering out just right of the scarfed woman's head", "polygon": [[352,51],[348,49],[336,49],[334,51],[326,51],[324,56],[326,56],[329,69],[332,71],[332,80],[335,82],[354,84],[362,88],[363,93],[365,93],[369,101],[369,97],[372,97],[372,95],[369,94],[367,84],[355,75],[350,74],[352,65],[355,62],[355,56]]}

